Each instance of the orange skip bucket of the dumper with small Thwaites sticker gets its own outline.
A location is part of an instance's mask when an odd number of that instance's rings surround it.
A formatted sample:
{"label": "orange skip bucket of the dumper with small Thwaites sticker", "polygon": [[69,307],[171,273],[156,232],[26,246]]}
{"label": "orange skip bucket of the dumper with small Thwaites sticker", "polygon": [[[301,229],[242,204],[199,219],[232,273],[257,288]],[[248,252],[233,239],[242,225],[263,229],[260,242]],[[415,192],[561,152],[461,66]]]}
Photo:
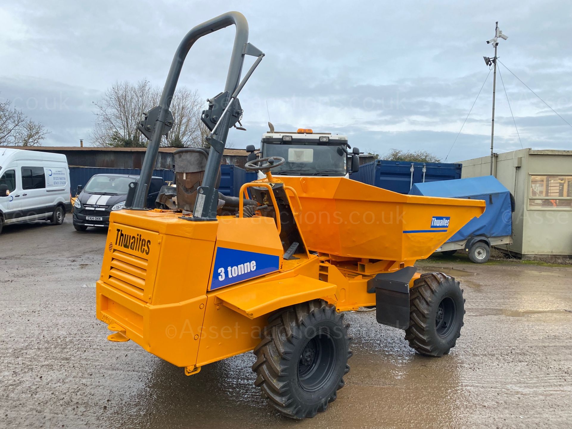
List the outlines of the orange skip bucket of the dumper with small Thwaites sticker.
{"label": "orange skip bucket of the dumper with small Thwaites sticker", "polygon": [[312,251],[392,261],[424,259],[484,212],[480,200],[404,195],[345,177],[280,177],[300,198]]}

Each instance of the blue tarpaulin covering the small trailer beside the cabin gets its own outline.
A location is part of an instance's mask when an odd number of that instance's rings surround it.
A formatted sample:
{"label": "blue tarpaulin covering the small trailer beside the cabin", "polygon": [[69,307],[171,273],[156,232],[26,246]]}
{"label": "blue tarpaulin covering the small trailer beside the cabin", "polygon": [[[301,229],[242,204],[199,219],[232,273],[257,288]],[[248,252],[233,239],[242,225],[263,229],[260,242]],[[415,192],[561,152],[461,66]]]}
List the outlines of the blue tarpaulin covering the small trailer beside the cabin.
{"label": "blue tarpaulin covering the small trailer beside the cabin", "polygon": [[409,194],[486,202],[484,213],[470,220],[448,241],[462,241],[475,236],[502,237],[513,233],[510,192],[493,176],[417,183]]}

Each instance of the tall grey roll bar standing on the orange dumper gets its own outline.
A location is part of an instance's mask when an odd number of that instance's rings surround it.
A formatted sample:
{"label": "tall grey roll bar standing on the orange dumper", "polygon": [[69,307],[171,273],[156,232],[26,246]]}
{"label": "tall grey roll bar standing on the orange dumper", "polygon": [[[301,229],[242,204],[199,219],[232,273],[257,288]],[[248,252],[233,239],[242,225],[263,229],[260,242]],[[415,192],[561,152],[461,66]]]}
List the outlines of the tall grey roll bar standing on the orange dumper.
{"label": "tall grey roll bar standing on the orange dumper", "polygon": [[[144,209],[145,207],[147,189],[149,188],[153,174],[153,167],[157,160],[161,137],[165,134],[165,129],[170,129],[170,126],[172,125],[172,123],[170,124],[170,121],[172,121],[172,115],[170,114],[169,107],[177,87],[177,81],[186,55],[194,42],[202,36],[233,24],[236,26],[236,34],[235,43],[232,48],[231,62],[228,67],[227,82],[224,87],[224,92],[228,93],[225,113],[227,110],[232,110],[232,105],[236,101],[237,94],[243,88],[246,80],[251,76],[255,67],[260,63],[260,59],[264,56],[260,50],[248,43],[248,22],[244,15],[239,12],[227,12],[216,18],[209,19],[209,21],[205,21],[202,24],[197,25],[185,35],[175,51],[173,61],[169,69],[169,74],[165,81],[163,92],[161,93],[161,99],[157,106],[159,109],[157,119],[154,124],[148,124],[146,126],[147,130],[152,129],[152,133],[150,134],[150,141],[141,166],[140,180],[137,183],[137,189],[133,197],[133,209]],[[239,82],[243,69],[244,55],[254,55],[259,58],[251,67],[247,76],[243,79],[243,82]],[[216,128],[213,129],[213,132],[209,136],[211,150],[208,160],[206,161],[206,169],[202,186],[198,188],[197,204],[193,212],[194,216],[193,218],[189,218],[189,220],[216,219],[216,202],[218,197],[218,192],[216,192],[215,189],[216,178],[220,162],[223,157],[224,146],[227,141],[229,124],[231,124],[231,115],[221,115],[219,122],[216,124]],[[150,128],[149,125],[152,128]]]}

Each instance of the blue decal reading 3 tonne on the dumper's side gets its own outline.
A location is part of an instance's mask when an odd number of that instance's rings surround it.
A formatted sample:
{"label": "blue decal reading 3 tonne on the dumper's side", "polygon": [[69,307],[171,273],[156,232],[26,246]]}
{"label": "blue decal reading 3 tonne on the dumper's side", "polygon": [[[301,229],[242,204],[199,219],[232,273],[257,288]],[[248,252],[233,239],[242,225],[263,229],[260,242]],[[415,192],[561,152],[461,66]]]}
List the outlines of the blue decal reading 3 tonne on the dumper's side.
{"label": "blue decal reading 3 tonne on the dumper's side", "polygon": [[280,257],[219,247],[210,290],[278,271]]}

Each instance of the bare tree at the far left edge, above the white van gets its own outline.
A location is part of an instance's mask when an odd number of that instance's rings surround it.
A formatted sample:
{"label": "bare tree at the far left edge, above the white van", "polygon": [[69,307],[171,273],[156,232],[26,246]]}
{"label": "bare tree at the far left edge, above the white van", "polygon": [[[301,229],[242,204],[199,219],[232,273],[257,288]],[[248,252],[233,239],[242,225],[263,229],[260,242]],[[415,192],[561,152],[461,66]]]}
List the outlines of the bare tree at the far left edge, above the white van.
{"label": "bare tree at the far left edge, above the white van", "polygon": [[49,133],[45,126],[11,104],[10,100],[0,102],[0,146],[40,146]]}

